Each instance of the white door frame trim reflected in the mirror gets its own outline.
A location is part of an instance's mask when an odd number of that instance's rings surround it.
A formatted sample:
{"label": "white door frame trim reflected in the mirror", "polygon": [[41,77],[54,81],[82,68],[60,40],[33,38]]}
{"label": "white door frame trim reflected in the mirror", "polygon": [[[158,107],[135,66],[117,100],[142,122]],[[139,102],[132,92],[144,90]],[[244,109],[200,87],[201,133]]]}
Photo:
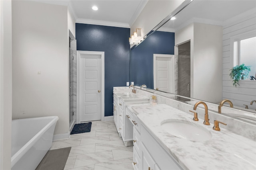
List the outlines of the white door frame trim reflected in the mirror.
{"label": "white door frame trim reflected in the mirror", "polygon": [[156,58],[157,57],[166,57],[166,58],[170,58],[170,64],[171,64],[171,68],[170,71],[172,74],[170,74],[170,83],[173,85],[170,89],[172,90],[172,92],[175,92],[175,74],[174,74],[174,55],[172,54],[153,54],[153,80],[154,80],[154,88],[156,87]]}

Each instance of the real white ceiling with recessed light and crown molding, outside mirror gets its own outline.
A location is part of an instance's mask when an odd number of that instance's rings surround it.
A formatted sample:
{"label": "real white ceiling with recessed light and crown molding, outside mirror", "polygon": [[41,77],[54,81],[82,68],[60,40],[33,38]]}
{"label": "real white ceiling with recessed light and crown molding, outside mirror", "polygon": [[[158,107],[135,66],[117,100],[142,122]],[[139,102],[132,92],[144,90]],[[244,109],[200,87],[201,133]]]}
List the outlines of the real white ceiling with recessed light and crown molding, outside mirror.
{"label": "real white ceiling with recessed light and crown molding, outside mirror", "polygon": [[[148,0],[37,0],[68,6],[77,23],[130,27]],[[98,10],[92,10],[97,6]]]}

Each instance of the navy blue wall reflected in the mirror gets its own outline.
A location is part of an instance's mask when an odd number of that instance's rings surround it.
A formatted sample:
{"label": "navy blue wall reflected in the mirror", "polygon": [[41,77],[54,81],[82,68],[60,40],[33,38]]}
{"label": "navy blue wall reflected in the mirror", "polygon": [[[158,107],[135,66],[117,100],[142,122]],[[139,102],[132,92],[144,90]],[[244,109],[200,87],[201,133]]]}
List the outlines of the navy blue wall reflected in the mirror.
{"label": "navy blue wall reflected in the mirror", "polygon": [[131,82],[154,87],[153,54],[174,55],[174,33],[155,31],[131,50]]}

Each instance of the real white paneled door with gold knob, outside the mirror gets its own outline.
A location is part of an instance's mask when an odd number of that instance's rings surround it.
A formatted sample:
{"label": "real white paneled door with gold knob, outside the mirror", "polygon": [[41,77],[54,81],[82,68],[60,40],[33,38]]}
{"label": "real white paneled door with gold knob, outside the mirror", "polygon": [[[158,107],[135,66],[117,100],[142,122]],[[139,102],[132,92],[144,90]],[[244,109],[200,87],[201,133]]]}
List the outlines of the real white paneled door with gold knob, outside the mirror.
{"label": "real white paneled door with gold knob, outside the mirror", "polygon": [[[79,120],[101,120],[102,116],[102,55],[87,53],[79,58]],[[103,63],[104,64],[104,63]],[[104,68],[103,68],[104,69]]]}

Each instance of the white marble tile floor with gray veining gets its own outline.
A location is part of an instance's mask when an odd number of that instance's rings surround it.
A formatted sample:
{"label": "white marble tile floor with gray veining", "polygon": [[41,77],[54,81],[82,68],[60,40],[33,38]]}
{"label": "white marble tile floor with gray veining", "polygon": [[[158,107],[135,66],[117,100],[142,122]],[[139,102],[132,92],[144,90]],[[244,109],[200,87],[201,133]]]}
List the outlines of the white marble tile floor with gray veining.
{"label": "white marble tile floor with gray veining", "polygon": [[133,170],[132,145],[124,146],[114,121],[92,121],[90,132],[54,141],[51,149],[72,147],[64,170]]}

